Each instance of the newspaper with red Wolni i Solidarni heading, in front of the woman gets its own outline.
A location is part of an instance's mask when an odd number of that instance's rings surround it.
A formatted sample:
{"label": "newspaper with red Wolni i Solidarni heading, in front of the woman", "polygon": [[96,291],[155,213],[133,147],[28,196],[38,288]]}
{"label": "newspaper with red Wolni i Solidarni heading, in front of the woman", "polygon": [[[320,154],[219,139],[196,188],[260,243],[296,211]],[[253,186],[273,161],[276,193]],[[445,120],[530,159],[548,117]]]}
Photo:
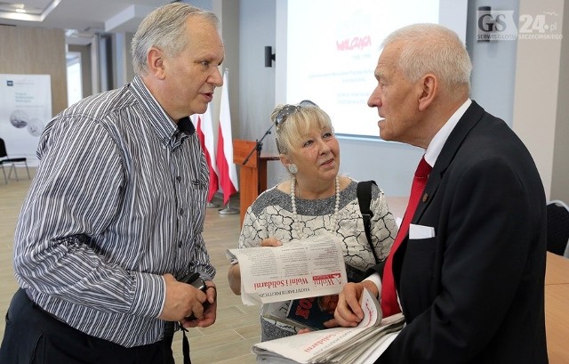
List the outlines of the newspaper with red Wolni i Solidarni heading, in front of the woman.
{"label": "newspaper with red Wolni i Solidarni heading, in front of the woman", "polygon": [[229,261],[239,263],[244,304],[334,295],[348,282],[341,240],[332,234],[280,247],[228,249],[226,255]]}

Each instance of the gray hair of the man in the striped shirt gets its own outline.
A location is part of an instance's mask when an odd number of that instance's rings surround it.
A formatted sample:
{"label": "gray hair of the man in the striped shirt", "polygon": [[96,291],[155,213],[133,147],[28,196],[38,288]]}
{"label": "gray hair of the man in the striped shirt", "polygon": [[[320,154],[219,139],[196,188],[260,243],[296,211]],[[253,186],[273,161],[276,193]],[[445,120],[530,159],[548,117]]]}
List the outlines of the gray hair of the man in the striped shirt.
{"label": "gray hair of the man in the striped shirt", "polygon": [[132,67],[139,76],[148,73],[147,56],[152,47],[159,48],[168,56],[180,54],[188,44],[186,20],[188,16],[199,16],[219,29],[220,20],[213,12],[205,11],[190,4],[171,3],[150,12],[132,38]]}

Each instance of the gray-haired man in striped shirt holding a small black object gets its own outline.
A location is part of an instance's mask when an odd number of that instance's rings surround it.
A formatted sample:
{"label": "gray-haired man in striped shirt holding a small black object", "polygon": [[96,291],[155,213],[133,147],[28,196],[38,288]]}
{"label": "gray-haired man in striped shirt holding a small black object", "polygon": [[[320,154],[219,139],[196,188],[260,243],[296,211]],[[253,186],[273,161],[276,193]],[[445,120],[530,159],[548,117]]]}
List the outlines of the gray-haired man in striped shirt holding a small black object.
{"label": "gray-haired man in striped shirt holding a small black object", "polygon": [[[0,362],[172,363],[167,322],[215,321],[209,174],[188,116],[222,85],[223,57],[212,12],[164,5],[132,40],[132,82],[46,127],[15,233],[20,290]],[[205,293],[177,281],[189,271]]]}

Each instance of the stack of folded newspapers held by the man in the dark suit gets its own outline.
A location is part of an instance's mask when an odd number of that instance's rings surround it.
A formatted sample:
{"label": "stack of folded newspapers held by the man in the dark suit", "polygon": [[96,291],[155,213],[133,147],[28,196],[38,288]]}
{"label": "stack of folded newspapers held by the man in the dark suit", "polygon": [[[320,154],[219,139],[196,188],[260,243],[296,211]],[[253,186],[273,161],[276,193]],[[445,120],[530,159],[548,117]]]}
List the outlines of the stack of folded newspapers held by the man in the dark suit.
{"label": "stack of folded newspapers held by the man in the dark suit", "polygon": [[361,299],[365,317],[356,328],[326,328],[252,346],[258,363],[368,364],[396,338],[405,320],[401,313],[381,320],[381,307],[367,290]]}

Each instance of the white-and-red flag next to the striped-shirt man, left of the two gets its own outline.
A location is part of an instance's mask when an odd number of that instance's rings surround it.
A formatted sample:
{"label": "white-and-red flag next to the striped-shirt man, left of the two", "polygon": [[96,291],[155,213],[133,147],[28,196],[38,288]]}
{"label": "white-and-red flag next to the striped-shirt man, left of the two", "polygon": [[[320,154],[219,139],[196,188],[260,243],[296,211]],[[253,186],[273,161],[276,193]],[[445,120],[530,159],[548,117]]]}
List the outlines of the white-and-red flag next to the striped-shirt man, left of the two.
{"label": "white-and-red flag next to the striped-shirt man, left of the two", "polygon": [[215,192],[220,190],[217,166],[215,165],[215,135],[213,134],[212,110],[207,108],[204,114],[192,115],[192,121],[196,126],[197,137],[202,150],[204,150],[205,160],[210,169],[210,185],[207,193],[207,202],[212,202]]}

